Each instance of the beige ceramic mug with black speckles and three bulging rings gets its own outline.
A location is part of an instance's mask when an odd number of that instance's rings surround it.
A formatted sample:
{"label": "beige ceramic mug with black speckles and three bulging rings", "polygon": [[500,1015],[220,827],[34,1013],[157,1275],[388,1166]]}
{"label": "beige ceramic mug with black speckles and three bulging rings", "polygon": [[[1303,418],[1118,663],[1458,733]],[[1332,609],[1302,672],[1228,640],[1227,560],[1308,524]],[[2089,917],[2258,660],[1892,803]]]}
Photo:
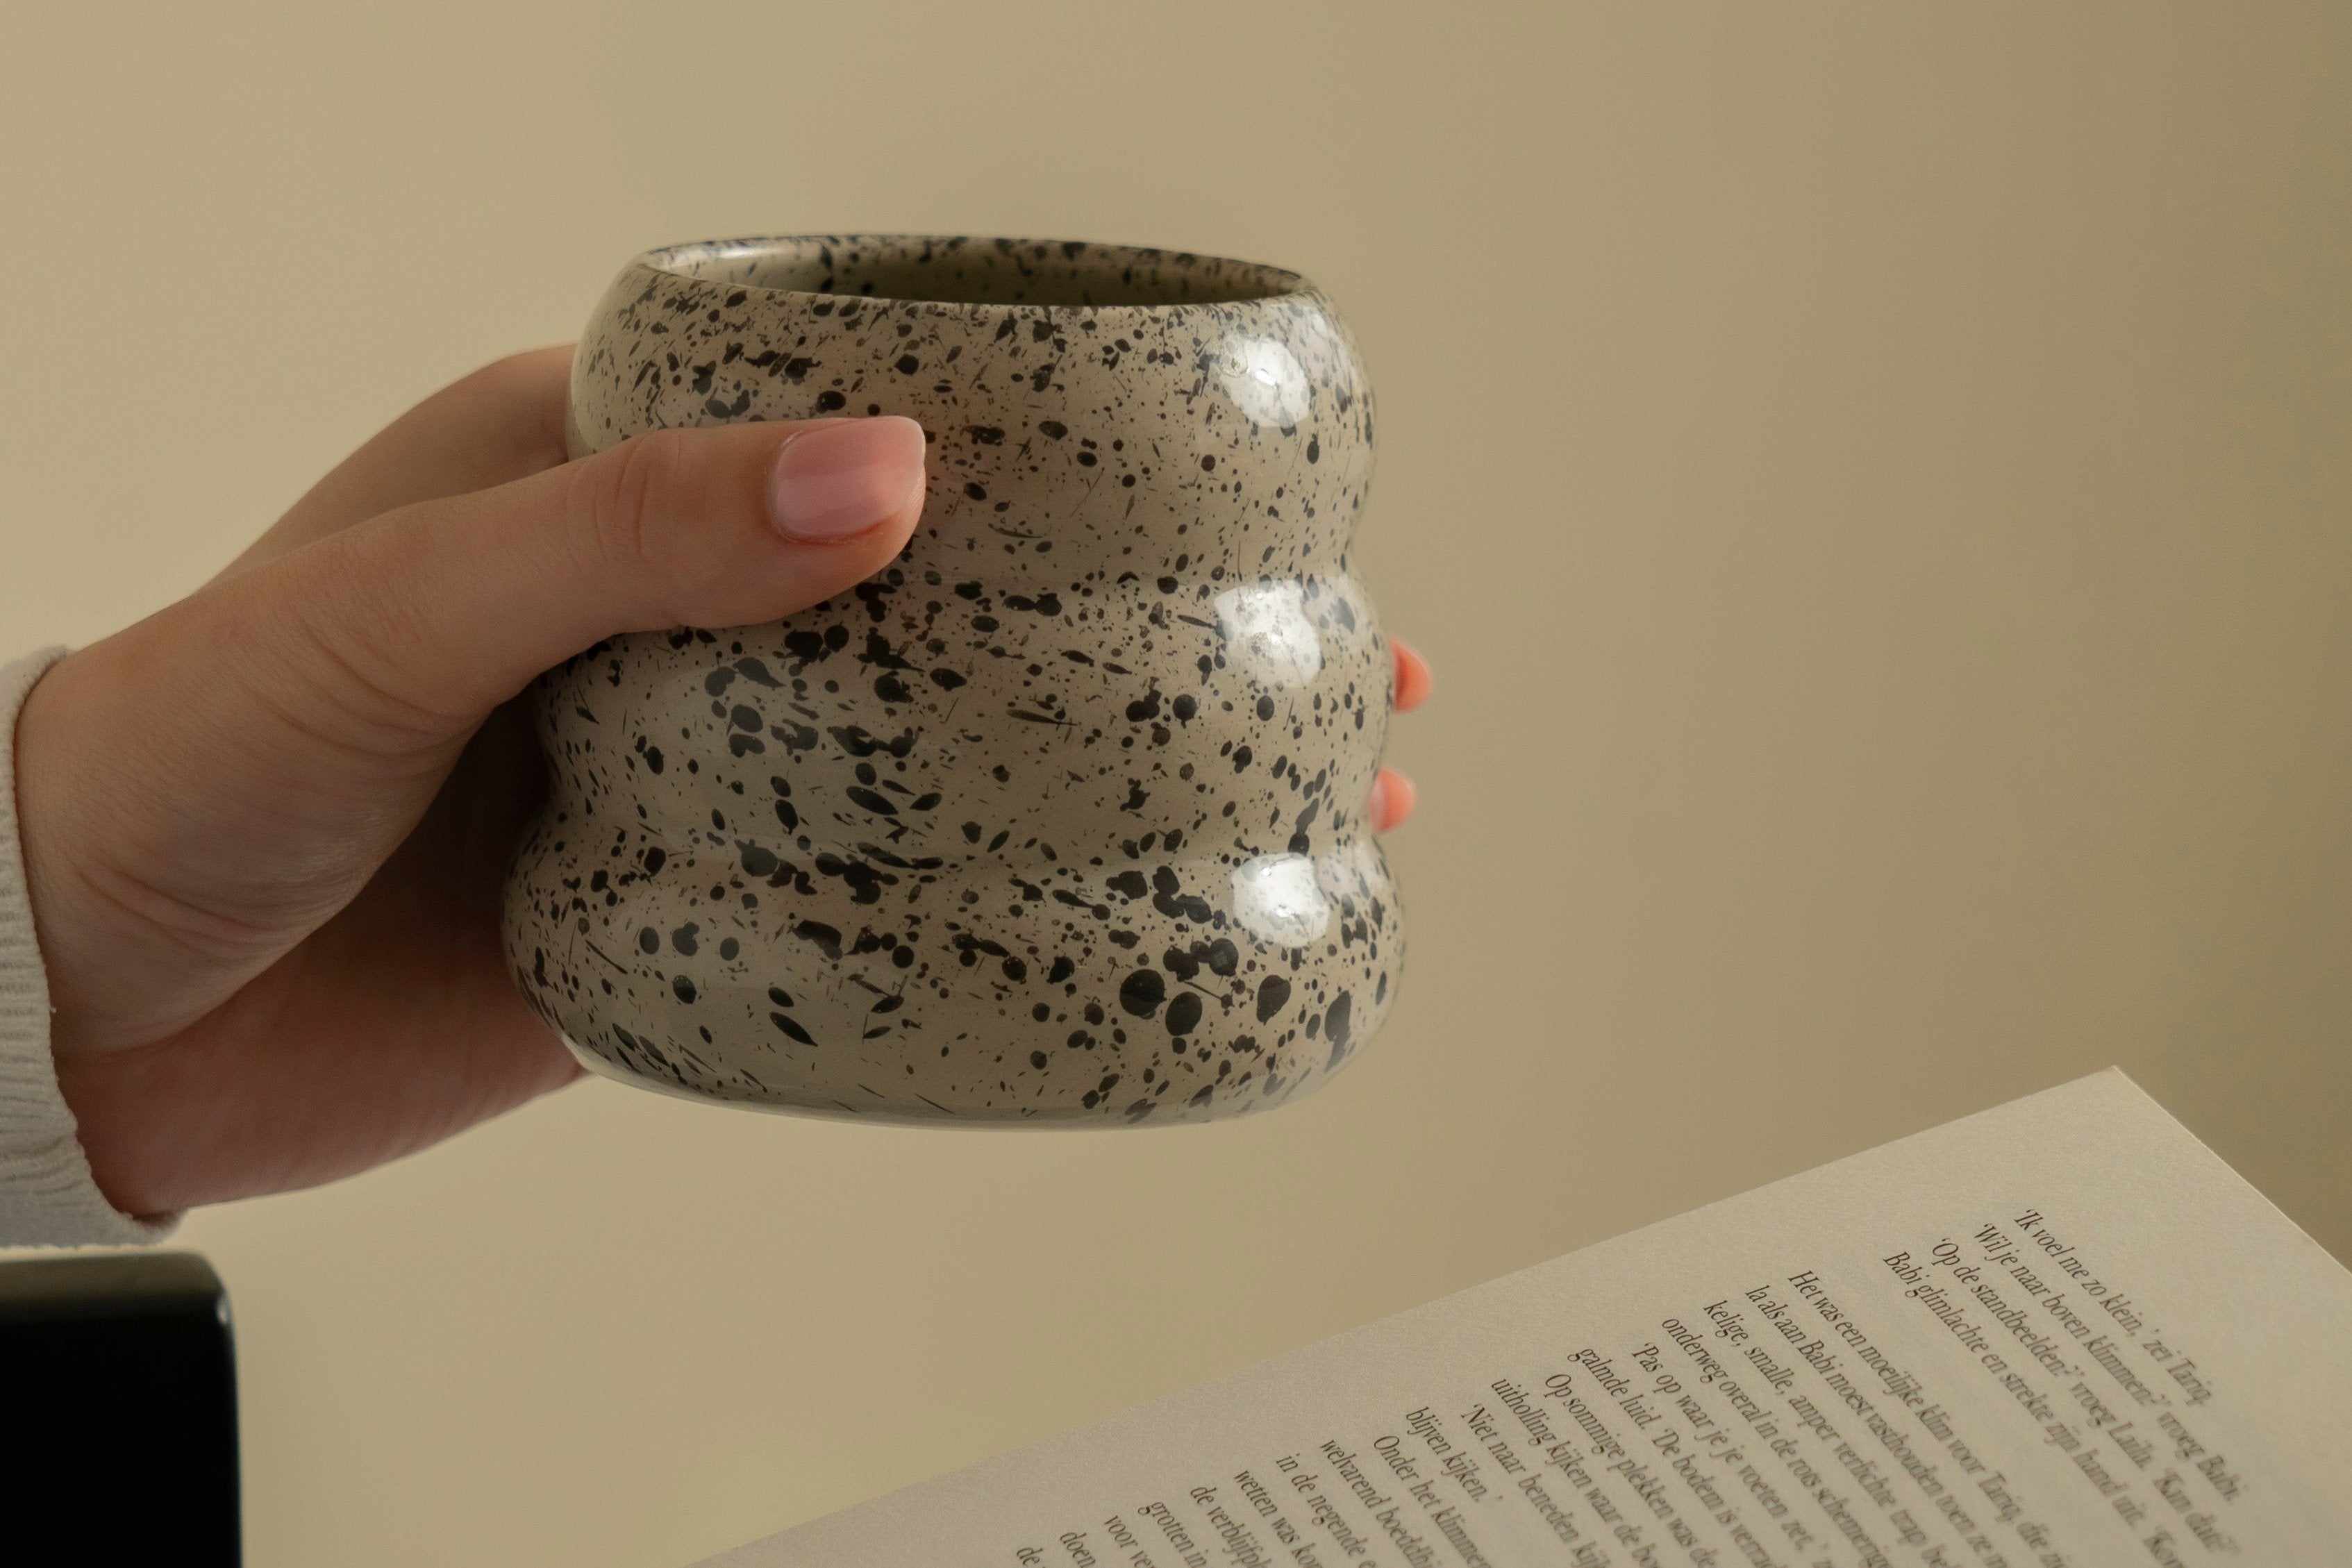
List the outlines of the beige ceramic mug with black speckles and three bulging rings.
{"label": "beige ceramic mug with black speckles and three bulging rings", "polygon": [[1402,957],[1331,303],[1152,249],[724,240],[630,261],[572,371],[574,456],[828,414],[927,430],[913,543],[541,679],[524,997],[595,1072],[771,1110],[1124,1126],[1317,1086]]}

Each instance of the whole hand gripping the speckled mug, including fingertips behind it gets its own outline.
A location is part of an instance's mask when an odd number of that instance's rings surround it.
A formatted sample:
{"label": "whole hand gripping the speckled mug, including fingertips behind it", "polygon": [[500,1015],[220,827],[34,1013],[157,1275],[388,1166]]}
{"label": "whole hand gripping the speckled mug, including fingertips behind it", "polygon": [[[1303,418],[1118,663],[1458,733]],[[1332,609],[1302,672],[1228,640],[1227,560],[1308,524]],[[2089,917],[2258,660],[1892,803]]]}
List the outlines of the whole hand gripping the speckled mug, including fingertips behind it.
{"label": "whole hand gripping the speckled mug, including fingertips behind it", "polygon": [[[569,364],[435,393],[26,701],[56,1072],[118,1208],[334,1180],[579,1077],[499,945],[541,788],[515,696],[614,632],[816,604],[915,529],[910,421],[663,430],[567,463]],[[1425,686],[1399,649],[1399,705]],[[1409,809],[1383,771],[1374,820]]]}

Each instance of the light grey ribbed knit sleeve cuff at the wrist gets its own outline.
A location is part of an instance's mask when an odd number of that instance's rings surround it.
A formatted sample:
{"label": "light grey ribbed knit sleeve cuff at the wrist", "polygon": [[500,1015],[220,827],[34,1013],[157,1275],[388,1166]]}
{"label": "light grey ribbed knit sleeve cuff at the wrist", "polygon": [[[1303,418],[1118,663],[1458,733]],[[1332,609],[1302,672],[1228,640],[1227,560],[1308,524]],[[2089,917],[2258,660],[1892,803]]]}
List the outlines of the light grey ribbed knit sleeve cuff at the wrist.
{"label": "light grey ribbed knit sleeve cuff at the wrist", "polygon": [[0,1246],[139,1246],[179,1215],[118,1213],[89,1175],[49,1063],[49,976],[16,837],[16,710],[66,649],[0,665]]}

